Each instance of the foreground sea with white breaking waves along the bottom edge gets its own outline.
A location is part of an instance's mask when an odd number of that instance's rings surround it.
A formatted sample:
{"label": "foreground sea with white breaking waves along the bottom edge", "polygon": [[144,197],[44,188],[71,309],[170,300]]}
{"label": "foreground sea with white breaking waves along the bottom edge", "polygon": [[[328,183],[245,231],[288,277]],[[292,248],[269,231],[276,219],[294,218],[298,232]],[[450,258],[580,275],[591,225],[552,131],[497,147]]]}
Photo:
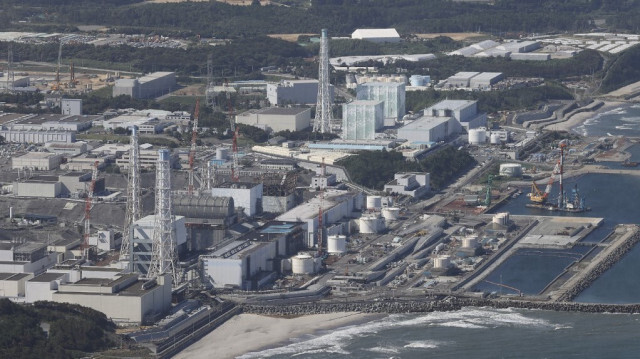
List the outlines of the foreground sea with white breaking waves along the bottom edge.
{"label": "foreground sea with white breaking waves along the bottom edge", "polygon": [[393,314],[238,358],[638,358],[639,331],[640,315],[463,308]]}

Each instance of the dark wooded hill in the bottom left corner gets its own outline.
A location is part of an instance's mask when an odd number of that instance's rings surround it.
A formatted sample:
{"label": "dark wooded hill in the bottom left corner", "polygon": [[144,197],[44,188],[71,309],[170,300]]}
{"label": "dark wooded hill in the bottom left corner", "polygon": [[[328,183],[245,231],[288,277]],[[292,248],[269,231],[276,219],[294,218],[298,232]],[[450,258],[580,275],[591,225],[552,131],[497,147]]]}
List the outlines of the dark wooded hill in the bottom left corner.
{"label": "dark wooded hill in the bottom left corner", "polygon": [[112,347],[114,330],[104,314],[79,305],[0,299],[0,358],[79,358]]}

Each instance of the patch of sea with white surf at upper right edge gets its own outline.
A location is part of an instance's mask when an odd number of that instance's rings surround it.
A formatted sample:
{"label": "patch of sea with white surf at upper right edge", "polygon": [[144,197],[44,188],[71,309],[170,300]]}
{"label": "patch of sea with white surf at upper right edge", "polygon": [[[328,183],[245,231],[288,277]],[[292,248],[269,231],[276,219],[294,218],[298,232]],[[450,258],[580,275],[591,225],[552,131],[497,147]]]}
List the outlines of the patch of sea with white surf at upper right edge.
{"label": "patch of sea with white surf at upper right edge", "polygon": [[598,114],[573,131],[583,136],[640,136],[640,105],[629,104]]}

